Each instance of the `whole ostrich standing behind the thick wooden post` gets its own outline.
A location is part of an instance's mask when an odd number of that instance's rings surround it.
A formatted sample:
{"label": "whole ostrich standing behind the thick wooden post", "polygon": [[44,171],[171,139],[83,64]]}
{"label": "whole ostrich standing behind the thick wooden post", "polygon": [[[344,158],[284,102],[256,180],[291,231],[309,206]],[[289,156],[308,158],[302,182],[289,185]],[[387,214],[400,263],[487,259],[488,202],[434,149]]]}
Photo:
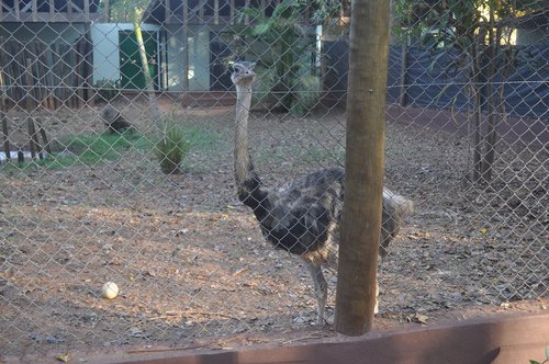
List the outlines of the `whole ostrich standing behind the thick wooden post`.
{"label": "whole ostrich standing behind the thick wooden post", "polygon": [[[233,65],[231,79],[236,86],[234,169],[238,198],[250,207],[264,237],[274,248],[299,255],[309,269],[317,303],[318,325],[323,325],[327,283],[323,268],[337,270],[339,226],[345,192],[345,170],[322,169],[295,179],[280,189],[266,189],[248,151],[248,116],[255,64]],[[399,234],[402,219],[411,213],[410,200],[383,190],[380,258]]]}

